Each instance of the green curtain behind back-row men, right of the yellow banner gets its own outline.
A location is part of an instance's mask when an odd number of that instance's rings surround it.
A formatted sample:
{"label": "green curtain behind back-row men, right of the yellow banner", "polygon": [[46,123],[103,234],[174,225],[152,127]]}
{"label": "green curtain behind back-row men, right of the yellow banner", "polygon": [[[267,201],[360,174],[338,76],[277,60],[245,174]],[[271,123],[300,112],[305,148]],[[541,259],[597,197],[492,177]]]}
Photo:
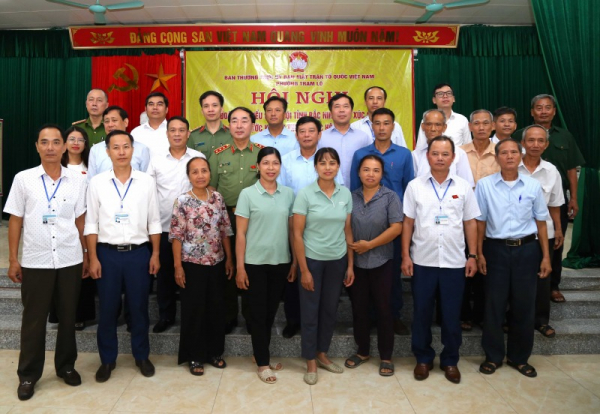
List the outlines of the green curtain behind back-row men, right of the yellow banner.
{"label": "green curtain behind back-row men, right of the yellow banner", "polygon": [[517,110],[519,126],[529,125],[529,102],[550,93],[550,82],[533,27],[464,26],[456,49],[419,49],[415,61],[415,122],[433,108],[438,83],[452,85],[454,110],[469,116],[476,109],[500,106]]}

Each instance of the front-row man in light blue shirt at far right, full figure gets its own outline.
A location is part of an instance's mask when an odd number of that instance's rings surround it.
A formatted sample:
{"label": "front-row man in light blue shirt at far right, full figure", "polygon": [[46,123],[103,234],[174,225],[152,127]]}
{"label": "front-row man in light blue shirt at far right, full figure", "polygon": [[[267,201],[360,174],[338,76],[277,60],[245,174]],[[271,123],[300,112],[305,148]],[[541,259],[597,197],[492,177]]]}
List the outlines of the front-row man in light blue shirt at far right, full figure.
{"label": "front-row man in light blue shirt at far right, full figure", "polygon": [[[483,374],[507,364],[527,377],[535,368],[527,363],[533,349],[537,278],[550,275],[546,220],[548,207],[542,187],[534,178],[519,174],[521,145],[513,139],[496,144],[500,172],[477,182],[477,266],[485,275],[485,312],[481,345]],[[485,240],[484,240],[485,237]],[[541,262],[541,263],[540,263]],[[507,306],[511,317],[508,346],[504,347]]]}

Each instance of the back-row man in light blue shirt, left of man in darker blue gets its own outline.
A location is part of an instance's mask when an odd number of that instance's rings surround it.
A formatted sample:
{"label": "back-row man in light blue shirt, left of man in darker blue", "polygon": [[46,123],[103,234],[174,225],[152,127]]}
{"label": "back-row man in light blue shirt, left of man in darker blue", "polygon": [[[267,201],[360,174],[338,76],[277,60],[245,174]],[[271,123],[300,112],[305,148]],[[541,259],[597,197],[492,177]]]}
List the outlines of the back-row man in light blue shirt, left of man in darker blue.
{"label": "back-row man in light blue shirt, left of man in darker blue", "polygon": [[333,126],[321,134],[319,148],[331,147],[337,151],[340,156],[340,171],[344,178],[344,185],[349,187],[352,157],[357,150],[371,145],[372,140],[363,131],[354,129],[350,125],[354,109],[354,101],[351,97],[338,93],[329,100],[328,106]]}

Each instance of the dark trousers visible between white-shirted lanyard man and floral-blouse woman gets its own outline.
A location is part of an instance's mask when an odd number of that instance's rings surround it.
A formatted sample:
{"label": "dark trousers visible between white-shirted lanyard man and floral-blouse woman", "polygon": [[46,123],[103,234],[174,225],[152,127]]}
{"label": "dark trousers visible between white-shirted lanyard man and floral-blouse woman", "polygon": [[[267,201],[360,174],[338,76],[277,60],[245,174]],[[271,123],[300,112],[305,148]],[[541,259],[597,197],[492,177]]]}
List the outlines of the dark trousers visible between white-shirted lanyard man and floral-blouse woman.
{"label": "dark trousers visible between white-shirted lanyard man and floral-blouse woman", "polygon": [[160,236],[160,270],[156,275],[156,301],[161,321],[175,321],[177,313],[177,283],[173,267],[173,246],[169,243],[169,233]]}

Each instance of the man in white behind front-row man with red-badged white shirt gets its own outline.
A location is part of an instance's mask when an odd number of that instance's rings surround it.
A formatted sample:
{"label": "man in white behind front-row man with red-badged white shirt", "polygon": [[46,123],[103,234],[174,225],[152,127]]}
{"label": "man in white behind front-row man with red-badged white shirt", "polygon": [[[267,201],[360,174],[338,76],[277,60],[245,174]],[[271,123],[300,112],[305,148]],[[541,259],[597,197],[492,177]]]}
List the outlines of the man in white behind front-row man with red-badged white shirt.
{"label": "man in white behind front-row man with red-badged white shirt", "polygon": [[[436,137],[444,134],[447,130],[446,115],[439,109],[430,109],[425,111],[423,114],[423,122],[421,123],[421,130],[425,133],[425,139],[429,143]],[[450,173],[458,175],[463,180],[466,180],[471,184],[471,188],[475,187],[475,180],[473,179],[473,172],[471,171],[471,165],[467,154],[458,147],[456,142],[454,143],[454,157],[452,164],[450,165]],[[412,152],[413,166],[415,167],[415,177],[421,177],[427,175],[430,171],[429,161],[427,159],[427,145],[421,148],[416,148]]]}

